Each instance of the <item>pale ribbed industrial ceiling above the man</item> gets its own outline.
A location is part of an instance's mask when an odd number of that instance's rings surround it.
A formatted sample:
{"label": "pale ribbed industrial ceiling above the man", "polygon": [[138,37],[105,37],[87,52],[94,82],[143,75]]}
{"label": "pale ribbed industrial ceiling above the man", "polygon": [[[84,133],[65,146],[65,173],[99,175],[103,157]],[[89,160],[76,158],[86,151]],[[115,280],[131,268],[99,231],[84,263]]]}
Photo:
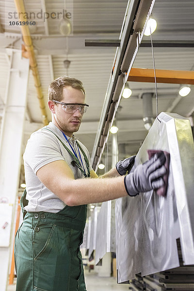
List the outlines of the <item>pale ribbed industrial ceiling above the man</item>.
{"label": "pale ribbed industrial ceiling above the man", "polygon": [[[67,1],[68,2],[68,1]],[[64,9],[64,1],[26,0],[27,11],[38,12],[41,9],[49,14]],[[30,28],[35,51],[44,101],[47,104],[49,83],[59,76],[68,74],[80,79],[86,89],[86,102],[90,105],[81,128],[76,136],[83,142],[92,155],[99,118],[102,111],[109,78],[113,68],[116,48],[85,47],[85,39],[118,39],[121,31],[127,0],[74,0],[73,33],[66,37],[60,34],[59,19],[38,19]],[[6,82],[9,71],[9,48],[21,49],[22,35],[19,26],[10,26],[6,13],[16,11],[14,0],[0,1],[0,110],[2,112],[6,94]],[[156,69],[194,70],[194,1],[193,0],[156,0],[152,17],[157,21],[157,29],[152,34]],[[150,37],[143,41],[148,44]],[[162,47],[156,47],[161,41]],[[173,45],[185,41],[187,46]],[[64,60],[70,61],[65,69]],[[140,47],[134,68],[153,68],[151,48]],[[194,112],[194,86],[187,97],[179,97],[181,84],[158,83],[159,113],[174,112],[189,117]],[[147,130],[143,122],[144,93],[153,93],[153,115],[156,116],[155,84],[149,82],[129,82],[132,95],[121,99],[117,114],[119,145],[123,145],[120,157],[136,154]],[[43,126],[32,72],[28,84],[28,101],[24,132],[25,148],[30,134]],[[51,115],[47,109],[48,119]],[[111,141],[111,136],[110,136]],[[122,155],[123,154],[123,155]],[[23,176],[22,176],[23,177]]]}

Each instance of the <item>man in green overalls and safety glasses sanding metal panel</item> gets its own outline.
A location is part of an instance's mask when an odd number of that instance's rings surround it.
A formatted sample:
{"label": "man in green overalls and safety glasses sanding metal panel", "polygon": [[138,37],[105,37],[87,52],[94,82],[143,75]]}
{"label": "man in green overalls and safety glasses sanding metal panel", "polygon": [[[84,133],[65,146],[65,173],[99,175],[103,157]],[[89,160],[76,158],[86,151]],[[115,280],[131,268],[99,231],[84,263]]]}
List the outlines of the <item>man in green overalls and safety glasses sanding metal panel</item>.
{"label": "man in green overalls and safety glasses sanding metal panel", "polygon": [[[158,189],[166,170],[155,156],[124,176],[134,158],[101,178],[78,142],[85,104],[81,81],[60,77],[49,86],[52,122],[31,135],[24,153],[24,222],[16,233],[17,291],[85,291],[80,253],[88,203]],[[122,176],[121,176],[122,175]]]}

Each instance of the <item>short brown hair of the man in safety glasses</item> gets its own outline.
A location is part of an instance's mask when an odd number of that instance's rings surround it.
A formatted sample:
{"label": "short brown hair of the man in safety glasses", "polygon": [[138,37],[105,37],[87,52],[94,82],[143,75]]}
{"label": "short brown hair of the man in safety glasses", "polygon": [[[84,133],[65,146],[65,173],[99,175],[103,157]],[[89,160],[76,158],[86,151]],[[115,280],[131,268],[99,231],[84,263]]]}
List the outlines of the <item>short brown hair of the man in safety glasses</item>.
{"label": "short brown hair of the man in safety glasses", "polygon": [[82,90],[85,95],[85,89],[83,88],[83,84],[80,80],[71,78],[69,76],[62,76],[50,83],[49,85],[49,100],[61,101],[63,99],[63,88],[65,86],[71,86],[74,89]]}

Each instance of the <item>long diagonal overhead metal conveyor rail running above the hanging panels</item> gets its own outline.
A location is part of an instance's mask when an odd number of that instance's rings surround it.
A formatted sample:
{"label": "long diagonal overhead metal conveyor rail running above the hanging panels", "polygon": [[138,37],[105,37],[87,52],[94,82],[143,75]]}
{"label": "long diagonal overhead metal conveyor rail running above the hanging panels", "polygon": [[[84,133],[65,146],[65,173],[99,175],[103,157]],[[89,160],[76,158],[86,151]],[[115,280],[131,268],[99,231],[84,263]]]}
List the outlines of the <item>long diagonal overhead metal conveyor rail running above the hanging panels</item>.
{"label": "long diagonal overhead metal conveyor rail running above the hanging panels", "polygon": [[[113,60],[113,70],[109,79],[105,95],[103,110],[101,112],[97,135],[91,156],[93,168],[97,169],[104,147],[108,140],[109,128],[117,111],[122,91],[128,79],[130,68],[142,41],[146,23],[151,15],[155,0],[130,0],[128,1],[126,13],[119,39],[120,47],[116,49]],[[127,74],[126,74],[127,72]],[[103,134],[104,133],[104,134]],[[104,138],[103,145],[100,144],[101,137]]]}

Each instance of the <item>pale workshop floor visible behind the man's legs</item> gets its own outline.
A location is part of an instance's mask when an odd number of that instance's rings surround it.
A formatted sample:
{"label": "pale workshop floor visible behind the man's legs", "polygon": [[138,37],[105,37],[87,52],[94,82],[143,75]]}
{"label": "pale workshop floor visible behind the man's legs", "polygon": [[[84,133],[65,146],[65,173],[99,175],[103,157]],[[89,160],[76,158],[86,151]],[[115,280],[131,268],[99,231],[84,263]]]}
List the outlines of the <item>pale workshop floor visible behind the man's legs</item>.
{"label": "pale workshop floor visible behind the man's legs", "polygon": [[[87,291],[128,291],[129,285],[117,284],[116,278],[98,277],[95,272],[85,271],[85,282]],[[15,291],[16,285],[9,285],[7,291]]]}

